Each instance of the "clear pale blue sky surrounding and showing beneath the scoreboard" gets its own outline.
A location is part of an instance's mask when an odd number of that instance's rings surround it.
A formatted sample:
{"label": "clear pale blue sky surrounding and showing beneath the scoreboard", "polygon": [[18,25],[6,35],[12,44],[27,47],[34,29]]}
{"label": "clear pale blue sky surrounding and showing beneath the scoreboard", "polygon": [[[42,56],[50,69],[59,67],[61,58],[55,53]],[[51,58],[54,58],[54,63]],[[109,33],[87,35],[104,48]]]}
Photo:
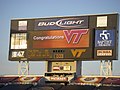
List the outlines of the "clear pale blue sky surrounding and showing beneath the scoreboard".
{"label": "clear pale blue sky surrounding and showing beneath the scoreboard", "polygon": [[[0,0],[0,75],[17,74],[18,70],[17,61],[8,61],[11,19],[113,12],[120,13],[120,0]],[[83,75],[99,75],[100,61],[82,64]],[[45,62],[30,62],[30,74],[44,72]],[[120,75],[120,56],[113,61],[113,75]]]}

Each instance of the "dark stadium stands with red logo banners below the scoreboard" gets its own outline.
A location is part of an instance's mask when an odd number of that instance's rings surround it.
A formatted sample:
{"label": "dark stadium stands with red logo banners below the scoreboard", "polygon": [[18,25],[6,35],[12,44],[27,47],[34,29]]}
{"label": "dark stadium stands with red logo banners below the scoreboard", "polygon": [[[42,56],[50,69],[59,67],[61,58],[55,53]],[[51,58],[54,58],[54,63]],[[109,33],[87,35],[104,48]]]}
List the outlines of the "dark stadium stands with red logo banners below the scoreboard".
{"label": "dark stadium stands with red logo banners below the scoreboard", "polygon": [[48,84],[45,77],[0,77],[0,90],[120,90],[119,76],[80,76],[69,84]]}

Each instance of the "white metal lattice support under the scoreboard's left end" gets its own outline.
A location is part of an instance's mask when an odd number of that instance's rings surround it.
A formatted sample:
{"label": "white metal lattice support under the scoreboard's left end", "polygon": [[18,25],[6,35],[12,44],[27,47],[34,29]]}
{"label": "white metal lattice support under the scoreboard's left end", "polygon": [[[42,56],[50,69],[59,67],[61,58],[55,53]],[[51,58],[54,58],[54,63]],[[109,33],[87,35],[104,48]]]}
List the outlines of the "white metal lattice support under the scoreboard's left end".
{"label": "white metal lattice support under the scoreboard's left end", "polygon": [[18,75],[29,74],[29,61],[19,61],[18,63]]}

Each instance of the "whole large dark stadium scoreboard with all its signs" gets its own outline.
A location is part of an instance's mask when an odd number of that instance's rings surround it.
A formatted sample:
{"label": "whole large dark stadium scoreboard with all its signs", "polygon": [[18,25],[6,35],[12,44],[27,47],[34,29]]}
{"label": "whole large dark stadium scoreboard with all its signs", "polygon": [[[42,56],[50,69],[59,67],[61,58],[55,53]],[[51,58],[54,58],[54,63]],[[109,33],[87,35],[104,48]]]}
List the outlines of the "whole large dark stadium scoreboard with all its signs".
{"label": "whole large dark stadium scoreboard with all its signs", "polygon": [[118,16],[12,19],[9,60],[116,60]]}

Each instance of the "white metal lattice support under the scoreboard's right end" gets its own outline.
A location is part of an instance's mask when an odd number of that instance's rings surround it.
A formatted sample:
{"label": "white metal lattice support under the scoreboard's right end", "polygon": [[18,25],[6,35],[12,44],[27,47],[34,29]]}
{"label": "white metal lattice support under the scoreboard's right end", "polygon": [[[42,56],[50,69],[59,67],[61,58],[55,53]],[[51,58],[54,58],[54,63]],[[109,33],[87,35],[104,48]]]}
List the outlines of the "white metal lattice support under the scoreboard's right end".
{"label": "white metal lattice support under the scoreboard's right end", "polygon": [[112,60],[101,60],[100,75],[101,76],[111,76],[112,75]]}

